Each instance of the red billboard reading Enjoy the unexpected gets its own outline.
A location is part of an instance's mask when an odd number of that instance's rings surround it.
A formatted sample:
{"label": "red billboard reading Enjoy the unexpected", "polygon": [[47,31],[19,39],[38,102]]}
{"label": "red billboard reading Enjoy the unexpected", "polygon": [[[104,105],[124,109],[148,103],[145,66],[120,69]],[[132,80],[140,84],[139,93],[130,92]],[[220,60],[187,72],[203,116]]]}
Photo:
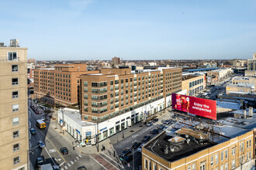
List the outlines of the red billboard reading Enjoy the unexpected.
{"label": "red billboard reading Enjoy the unexpected", "polygon": [[198,97],[171,94],[172,108],[216,120],[216,101]]}

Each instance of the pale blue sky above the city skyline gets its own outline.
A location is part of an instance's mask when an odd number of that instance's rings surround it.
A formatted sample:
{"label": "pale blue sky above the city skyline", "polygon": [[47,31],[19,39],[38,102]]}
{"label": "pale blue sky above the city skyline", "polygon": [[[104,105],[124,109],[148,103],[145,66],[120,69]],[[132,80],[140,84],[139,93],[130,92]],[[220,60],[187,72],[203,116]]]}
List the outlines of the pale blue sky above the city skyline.
{"label": "pale blue sky above the city skyline", "polygon": [[0,42],[35,59],[233,59],[256,53],[254,0],[1,1]]}

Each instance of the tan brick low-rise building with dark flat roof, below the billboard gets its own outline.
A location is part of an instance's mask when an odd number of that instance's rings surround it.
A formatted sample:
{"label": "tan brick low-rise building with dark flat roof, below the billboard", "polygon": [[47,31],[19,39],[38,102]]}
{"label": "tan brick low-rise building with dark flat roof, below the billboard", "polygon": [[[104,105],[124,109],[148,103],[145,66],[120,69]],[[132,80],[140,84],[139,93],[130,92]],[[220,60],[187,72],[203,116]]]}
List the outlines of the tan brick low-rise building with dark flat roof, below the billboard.
{"label": "tan brick low-rise building with dark flat roof, below the billboard", "polygon": [[[255,135],[251,127],[256,125],[255,118],[247,121],[229,117],[218,121],[214,132],[208,133],[200,128],[206,124],[203,122],[193,121],[189,127],[190,119],[175,122],[142,147],[142,169],[254,168]],[[184,128],[183,123],[189,128]]]}

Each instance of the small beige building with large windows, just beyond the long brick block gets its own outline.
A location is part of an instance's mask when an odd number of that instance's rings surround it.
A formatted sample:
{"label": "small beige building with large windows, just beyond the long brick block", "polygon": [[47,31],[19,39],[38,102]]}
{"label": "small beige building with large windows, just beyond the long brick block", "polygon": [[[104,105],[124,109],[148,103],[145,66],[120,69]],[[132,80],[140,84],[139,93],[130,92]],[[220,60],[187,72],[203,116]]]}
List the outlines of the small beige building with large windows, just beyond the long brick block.
{"label": "small beige building with large windows, just beyond the long brick block", "polygon": [[186,90],[189,96],[202,93],[206,87],[206,76],[188,74],[182,75],[182,90]]}

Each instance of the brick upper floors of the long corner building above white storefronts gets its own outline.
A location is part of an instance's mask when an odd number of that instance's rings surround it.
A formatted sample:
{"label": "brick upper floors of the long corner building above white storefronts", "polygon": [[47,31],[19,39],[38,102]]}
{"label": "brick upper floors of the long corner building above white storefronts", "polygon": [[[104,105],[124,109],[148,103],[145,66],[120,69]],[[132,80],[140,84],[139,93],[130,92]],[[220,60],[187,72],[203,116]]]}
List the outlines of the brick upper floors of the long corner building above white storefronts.
{"label": "brick upper floors of the long corner building above white storefronts", "polygon": [[[161,67],[133,72],[126,68],[102,69],[99,74],[85,74],[80,78],[83,121],[106,121],[182,90],[181,68]],[[164,100],[160,110],[170,105],[171,100]],[[152,105],[147,117],[156,112],[157,108],[153,109]],[[132,122],[141,121],[145,116],[138,114]]]}

